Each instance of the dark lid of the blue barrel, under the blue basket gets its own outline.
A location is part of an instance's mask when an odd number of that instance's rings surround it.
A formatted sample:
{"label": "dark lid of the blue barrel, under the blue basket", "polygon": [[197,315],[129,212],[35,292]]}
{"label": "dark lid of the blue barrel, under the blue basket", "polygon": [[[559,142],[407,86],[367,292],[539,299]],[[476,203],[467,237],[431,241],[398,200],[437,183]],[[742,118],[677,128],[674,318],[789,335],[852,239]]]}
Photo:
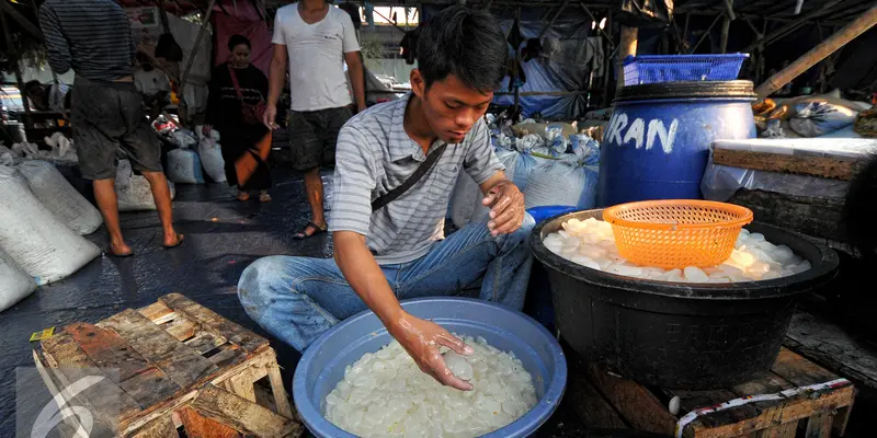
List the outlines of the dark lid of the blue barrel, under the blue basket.
{"label": "dark lid of the blue barrel, under the blue basket", "polygon": [[615,102],[715,97],[755,100],[756,96],[752,81],[660,82],[625,87]]}

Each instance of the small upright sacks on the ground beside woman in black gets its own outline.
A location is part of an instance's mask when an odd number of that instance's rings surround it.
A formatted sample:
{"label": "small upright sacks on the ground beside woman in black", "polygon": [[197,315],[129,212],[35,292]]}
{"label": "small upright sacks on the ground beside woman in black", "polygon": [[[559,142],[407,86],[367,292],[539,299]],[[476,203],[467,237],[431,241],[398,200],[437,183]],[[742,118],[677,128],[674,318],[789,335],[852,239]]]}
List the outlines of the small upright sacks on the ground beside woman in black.
{"label": "small upright sacks on the ground beside woman in black", "polygon": [[179,184],[204,184],[206,172],[214,182],[225,183],[225,161],[219,146],[219,132],[212,129],[205,136],[201,126],[196,131],[197,136],[186,129],[164,134],[176,146],[176,149],[168,152],[168,180]]}

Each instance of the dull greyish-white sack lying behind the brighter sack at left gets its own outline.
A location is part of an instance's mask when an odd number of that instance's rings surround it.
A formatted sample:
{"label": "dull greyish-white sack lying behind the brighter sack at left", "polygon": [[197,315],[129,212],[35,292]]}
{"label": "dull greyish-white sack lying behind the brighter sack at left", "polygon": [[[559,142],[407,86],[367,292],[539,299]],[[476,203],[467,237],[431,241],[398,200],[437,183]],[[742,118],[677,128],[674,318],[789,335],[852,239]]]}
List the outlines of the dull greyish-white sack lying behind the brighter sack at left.
{"label": "dull greyish-white sack lying behind the brighter sack at left", "polygon": [[27,180],[31,192],[43,206],[77,234],[91,234],[103,223],[101,212],[52,163],[32,160],[15,169]]}

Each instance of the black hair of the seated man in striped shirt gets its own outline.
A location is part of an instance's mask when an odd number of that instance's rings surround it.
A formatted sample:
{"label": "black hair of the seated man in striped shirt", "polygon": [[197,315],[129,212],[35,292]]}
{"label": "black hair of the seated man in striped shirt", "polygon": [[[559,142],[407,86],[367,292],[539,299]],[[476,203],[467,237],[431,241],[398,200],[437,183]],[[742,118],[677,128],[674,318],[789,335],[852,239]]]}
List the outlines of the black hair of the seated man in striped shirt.
{"label": "black hair of the seated man in striped shirt", "polygon": [[505,77],[505,36],[489,12],[453,5],[418,30],[418,69],[426,89],[454,74],[480,92],[496,90]]}

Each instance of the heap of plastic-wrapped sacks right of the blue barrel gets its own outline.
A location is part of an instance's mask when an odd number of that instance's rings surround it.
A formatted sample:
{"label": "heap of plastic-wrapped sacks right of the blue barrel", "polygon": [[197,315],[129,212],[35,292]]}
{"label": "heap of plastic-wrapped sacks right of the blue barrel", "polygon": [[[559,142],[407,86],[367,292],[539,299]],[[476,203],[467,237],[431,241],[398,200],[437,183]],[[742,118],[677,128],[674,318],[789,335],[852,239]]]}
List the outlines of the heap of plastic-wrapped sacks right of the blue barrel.
{"label": "heap of plastic-wrapped sacks right of the blue barrel", "polygon": [[[854,123],[870,104],[841,99],[838,90],[822,95],[785,101],[765,99],[753,105],[755,125],[762,138],[822,137],[841,131],[856,137]],[[865,134],[859,132],[859,136]]]}

